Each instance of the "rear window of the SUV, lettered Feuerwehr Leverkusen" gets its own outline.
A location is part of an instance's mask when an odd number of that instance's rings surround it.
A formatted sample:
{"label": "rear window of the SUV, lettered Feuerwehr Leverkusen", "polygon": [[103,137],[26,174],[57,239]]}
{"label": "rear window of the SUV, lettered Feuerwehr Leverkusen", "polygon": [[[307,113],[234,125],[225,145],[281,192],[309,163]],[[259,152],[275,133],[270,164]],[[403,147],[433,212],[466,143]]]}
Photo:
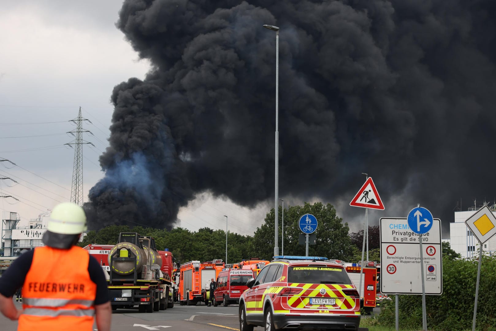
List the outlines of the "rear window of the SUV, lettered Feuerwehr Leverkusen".
{"label": "rear window of the SUV, lettered Feuerwehr Leverkusen", "polygon": [[348,273],[336,266],[290,266],[288,283],[352,284]]}

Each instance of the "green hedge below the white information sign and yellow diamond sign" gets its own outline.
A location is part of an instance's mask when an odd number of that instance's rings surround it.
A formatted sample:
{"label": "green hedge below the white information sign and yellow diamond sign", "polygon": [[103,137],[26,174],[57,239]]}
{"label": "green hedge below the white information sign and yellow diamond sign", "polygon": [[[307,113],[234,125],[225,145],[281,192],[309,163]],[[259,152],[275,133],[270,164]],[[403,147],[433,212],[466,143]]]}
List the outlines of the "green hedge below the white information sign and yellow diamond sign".
{"label": "green hedge below the white information sign and yellow diamond sign", "polygon": [[[426,295],[429,330],[472,330],[477,267],[477,260],[443,259],[443,293]],[[395,325],[395,296],[391,297],[377,316],[378,325]],[[422,295],[399,295],[399,325],[422,330]],[[496,257],[482,260],[476,330],[496,331]]]}

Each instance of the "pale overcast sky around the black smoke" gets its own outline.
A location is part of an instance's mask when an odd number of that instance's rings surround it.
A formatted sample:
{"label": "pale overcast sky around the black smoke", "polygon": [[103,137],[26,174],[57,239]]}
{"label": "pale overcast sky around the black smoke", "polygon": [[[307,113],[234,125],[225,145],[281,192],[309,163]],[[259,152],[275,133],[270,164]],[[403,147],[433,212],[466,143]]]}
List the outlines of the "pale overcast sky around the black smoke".
{"label": "pale overcast sky around the black smoke", "polygon": [[[0,181],[3,212],[21,223],[70,198],[74,150],[65,132],[75,127],[79,107],[90,120],[83,128],[84,201],[103,177],[98,157],[108,145],[112,89],[149,68],[115,27],[122,1],[11,1],[0,11]],[[241,208],[204,195],[180,211],[178,225],[225,229],[252,235],[265,206]],[[5,217],[4,213],[3,216]]]}

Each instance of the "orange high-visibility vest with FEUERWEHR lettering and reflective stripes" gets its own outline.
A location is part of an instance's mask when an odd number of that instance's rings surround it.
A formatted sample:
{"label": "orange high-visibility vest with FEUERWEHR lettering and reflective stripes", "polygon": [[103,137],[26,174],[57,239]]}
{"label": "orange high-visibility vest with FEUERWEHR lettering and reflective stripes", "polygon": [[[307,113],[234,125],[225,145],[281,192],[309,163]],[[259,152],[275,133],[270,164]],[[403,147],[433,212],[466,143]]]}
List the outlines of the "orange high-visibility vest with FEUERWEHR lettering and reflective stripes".
{"label": "orange high-visibility vest with FEUERWEHR lettering and reflective stripes", "polygon": [[89,254],[38,247],[22,287],[24,312],[18,331],[91,331],[96,284],[88,272]]}

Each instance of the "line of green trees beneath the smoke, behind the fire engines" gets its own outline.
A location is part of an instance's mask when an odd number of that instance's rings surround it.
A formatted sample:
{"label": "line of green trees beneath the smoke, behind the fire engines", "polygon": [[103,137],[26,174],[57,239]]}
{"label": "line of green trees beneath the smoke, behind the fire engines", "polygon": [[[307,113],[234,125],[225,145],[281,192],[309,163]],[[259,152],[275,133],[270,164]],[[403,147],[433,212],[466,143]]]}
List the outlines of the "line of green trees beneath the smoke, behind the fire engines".
{"label": "line of green trees beneath the smoke, behind the fire engines", "polygon": [[[315,245],[310,245],[309,255],[324,256],[346,262],[359,263],[361,260],[362,240],[364,230],[350,232],[348,223],[336,215],[336,209],[331,204],[321,202],[305,203],[284,208],[284,254],[305,255],[305,245],[299,244],[298,221],[304,214],[312,214],[318,220]],[[264,223],[256,229],[253,236],[228,232],[228,263],[236,263],[250,258],[270,261],[274,255],[274,217],[272,208],[265,216]],[[279,206],[279,238],[282,235],[282,207]],[[112,225],[98,232],[88,231],[81,247],[88,244],[114,245],[120,232],[137,232],[140,235],[155,238],[157,248],[168,248],[174,257],[187,262],[192,260],[212,261],[225,260],[226,232],[212,230],[208,227],[198,231],[189,231],[177,227],[171,231],[165,229],[146,228],[142,226]],[[282,241],[279,239],[279,252],[282,252]],[[379,227],[369,227],[369,259],[379,262]]]}

